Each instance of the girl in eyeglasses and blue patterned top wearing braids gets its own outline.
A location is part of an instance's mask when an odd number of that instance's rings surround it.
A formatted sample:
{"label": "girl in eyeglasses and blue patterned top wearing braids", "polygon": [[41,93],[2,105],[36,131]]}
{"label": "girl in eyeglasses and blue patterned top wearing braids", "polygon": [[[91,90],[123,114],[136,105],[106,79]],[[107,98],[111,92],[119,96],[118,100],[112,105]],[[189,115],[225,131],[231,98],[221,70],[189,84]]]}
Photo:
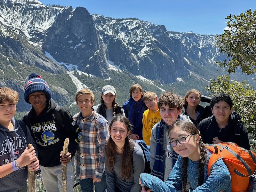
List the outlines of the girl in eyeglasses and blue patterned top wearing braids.
{"label": "girl in eyeglasses and blue patterned top wearing braids", "polygon": [[194,124],[178,121],[170,127],[168,135],[173,150],[179,154],[177,162],[165,182],[149,174],[140,174],[139,183],[143,192],[174,192],[180,184],[183,184],[185,191],[187,180],[193,192],[231,192],[231,177],[221,159],[213,165],[208,176],[211,153],[207,151]]}

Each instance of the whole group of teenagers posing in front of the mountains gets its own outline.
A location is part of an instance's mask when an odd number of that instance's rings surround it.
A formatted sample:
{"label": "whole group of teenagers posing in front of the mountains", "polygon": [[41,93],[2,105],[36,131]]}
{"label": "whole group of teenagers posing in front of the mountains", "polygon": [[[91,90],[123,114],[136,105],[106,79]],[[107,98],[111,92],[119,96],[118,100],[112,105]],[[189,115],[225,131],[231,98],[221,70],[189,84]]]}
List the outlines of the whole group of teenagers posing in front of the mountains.
{"label": "whole group of teenagers posing in front of the mountains", "polygon": [[[121,107],[111,85],[102,88],[98,105],[93,92],[82,89],[75,96],[80,112],[71,116],[54,102],[46,81],[32,73],[24,85],[24,99],[32,107],[21,121],[14,118],[19,93],[1,87],[0,191],[26,192],[27,169],[40,167],[46,192],[60,192],[61,164],[67,164],[71,192],[76,164],[82,192],[231,192],[222,160],[208,173],[211,153],[204,144],[235,142],[250,149],[247,129],[228,94],[216,94],[210,107],[202,107],[195,89],[184,99],[173,92],[157,97],[139,84],[129,92]],[[150,174],[144,173],[147,161],[135,140],[144,140],[149,148]],[[28,149],[28,143],[33,147]]]}

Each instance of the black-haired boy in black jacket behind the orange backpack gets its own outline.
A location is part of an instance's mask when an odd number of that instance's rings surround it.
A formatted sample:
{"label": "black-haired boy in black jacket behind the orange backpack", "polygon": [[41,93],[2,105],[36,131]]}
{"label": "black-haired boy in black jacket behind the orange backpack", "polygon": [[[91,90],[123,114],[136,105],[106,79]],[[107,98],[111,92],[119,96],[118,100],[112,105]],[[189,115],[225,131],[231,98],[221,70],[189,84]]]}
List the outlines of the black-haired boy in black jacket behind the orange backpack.
{"label": "black-haired boy in black jacket behind the orange backpack", "polygon": [[239,122],[240,116],[232,112],[233,102],[228,94],[219,93],[211,99],[212,116],[197,126],[204,143],[234,142],[250,149],[246,127]]}

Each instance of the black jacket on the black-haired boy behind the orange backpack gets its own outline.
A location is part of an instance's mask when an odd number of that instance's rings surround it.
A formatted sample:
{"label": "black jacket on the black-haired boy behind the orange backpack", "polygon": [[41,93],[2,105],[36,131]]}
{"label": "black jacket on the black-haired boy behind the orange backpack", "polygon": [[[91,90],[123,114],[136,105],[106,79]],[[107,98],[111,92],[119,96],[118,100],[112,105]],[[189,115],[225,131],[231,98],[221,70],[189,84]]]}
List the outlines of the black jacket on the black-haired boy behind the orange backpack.
{"label": "black jacket on the black-haired boy behind the orange backpack", "polygon": [[228,125],[219,128],[214,115],[202,120],[197,126],[204,143],[212,143],[213,138],[218,137],[223,142],[234,142],[240,147],[250,149],[249,137],[246,127],[239,122],[240,116],[232,112]]}

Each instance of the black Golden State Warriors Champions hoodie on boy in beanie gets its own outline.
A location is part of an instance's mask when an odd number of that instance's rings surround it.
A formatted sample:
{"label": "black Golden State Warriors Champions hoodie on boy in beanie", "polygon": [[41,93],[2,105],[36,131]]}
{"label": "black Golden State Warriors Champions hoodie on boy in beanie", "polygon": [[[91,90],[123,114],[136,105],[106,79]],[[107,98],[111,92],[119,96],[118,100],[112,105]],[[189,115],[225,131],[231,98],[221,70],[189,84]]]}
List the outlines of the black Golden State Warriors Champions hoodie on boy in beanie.
{"label": "black Golden State Warriors Champions hoodie on boy in beanie", "polygon": [[69,138],[68,152],[71,156],[76,153],[76,148],[79,145],[78,135],[81,130],[74,122],[69,111],[62,106],[60,107],[62,122],[58,122],[54,117],[54,110],[58,110],[57,103],[54,100],[47,100],[46,107],[39,116],[36,116],[35,110],[32,107],[29,113],[23,117],[23,121],[27,124],[36,141],[38,147],[38,159],[40,165],[44,167],[53,167],[61,164],[60,152],[63,149],[64,140]]}

